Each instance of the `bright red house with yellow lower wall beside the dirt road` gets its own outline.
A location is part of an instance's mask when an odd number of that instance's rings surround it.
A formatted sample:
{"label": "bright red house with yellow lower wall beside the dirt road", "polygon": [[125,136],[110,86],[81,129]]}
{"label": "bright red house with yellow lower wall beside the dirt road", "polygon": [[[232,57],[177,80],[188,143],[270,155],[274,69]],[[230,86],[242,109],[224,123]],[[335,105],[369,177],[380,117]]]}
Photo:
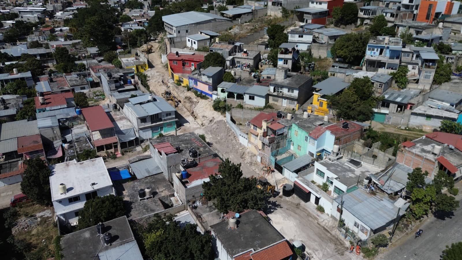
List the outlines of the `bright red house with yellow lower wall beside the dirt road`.
{"label": "bright red house with yellow lower wall beside the dirt road", "polygon": [[200,63],[204,56],[193,53],[173,53],[167,55],[169,60],[169,75],[174,81],[179,81],[183,86],[189,85],[188,75],[195,69],[201,68]]}

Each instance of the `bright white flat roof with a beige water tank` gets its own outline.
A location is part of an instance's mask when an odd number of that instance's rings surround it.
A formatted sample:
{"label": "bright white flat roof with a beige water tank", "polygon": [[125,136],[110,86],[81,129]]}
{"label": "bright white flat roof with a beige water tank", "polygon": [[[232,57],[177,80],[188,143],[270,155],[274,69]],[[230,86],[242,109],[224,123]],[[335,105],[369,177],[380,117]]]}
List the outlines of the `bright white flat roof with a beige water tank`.
{"label": "bright white flat roof with a beige water tank", "polygon": [[[103,157],[77,162],[76,160],[50,166],[51,199],[57,201],[70,198],[93,190],[112,186]],[[59,185],[64,183],[67,192],[61,194]],[[91,184],[95,185],[91,186]]]}

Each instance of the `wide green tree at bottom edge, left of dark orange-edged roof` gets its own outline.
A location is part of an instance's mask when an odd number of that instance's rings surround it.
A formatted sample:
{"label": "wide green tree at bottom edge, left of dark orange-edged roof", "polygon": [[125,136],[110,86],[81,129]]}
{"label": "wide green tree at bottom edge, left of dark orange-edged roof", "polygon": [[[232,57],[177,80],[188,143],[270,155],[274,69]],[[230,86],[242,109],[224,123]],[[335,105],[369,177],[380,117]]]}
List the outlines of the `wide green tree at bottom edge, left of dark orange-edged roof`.
{"label": "wide green tree at bottom edge, left of dark orange-edged roof", "polygon": [[139,233],[146,255],[154,260],[214,259],[212,235],[201,235],[196,224],[182,226],[171,215],[165,219],[154,215],[146,228],[140,227]]}

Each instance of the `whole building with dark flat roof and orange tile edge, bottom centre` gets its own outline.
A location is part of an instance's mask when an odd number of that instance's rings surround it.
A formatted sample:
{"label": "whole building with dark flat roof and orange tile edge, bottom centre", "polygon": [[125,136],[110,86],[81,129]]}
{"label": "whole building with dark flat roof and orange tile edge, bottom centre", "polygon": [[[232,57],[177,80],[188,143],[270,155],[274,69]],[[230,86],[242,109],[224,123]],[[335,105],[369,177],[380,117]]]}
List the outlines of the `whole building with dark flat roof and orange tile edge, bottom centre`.
{"label": "whole building with dark flat roof and orange tile edge, bottom centre", "polygon": [[[237,228],[229,227],[231,219],[210,226],[211,234],[215,238],[213,248],[219,259],[292,259],[294,253],[290,243],[259,211],[250,210],[240,215]],[[259,239],[254,239],[255,237]]]}

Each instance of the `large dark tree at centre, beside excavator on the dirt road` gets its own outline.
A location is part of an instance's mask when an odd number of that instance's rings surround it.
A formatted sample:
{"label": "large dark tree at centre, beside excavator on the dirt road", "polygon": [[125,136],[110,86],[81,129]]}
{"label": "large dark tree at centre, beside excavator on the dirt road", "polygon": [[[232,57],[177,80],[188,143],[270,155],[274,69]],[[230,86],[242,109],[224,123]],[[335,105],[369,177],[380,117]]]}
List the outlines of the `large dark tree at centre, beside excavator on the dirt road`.
{"label": "large dark tree at centre, beside excavator on the dirt road", "polygon": [[241,164],[226,159],[218,172],[221,176],[210,175],[202,187],[205,198],[213,200],[219,212],[261,210],[265,206],[265,193],[256,187],[256,179],[242,178]]}

